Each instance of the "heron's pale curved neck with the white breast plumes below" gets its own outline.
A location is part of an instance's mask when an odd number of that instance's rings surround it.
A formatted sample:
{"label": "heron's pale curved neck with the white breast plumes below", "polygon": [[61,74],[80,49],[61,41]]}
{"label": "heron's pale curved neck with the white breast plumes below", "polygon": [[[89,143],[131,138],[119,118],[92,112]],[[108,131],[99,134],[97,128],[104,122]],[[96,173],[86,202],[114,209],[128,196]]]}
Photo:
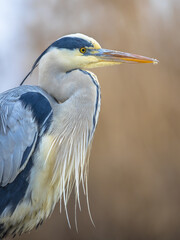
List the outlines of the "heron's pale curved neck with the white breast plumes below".
{"label": "heron's pale curved neck with the white breast plumes below", "polygon": [[51,189],[58,193],[56,201],[65,196],[66,206],[71,189],[66,186],[75,184],[79,198],[79,183],[86,185],[89,151],[100,110],[100,88],[95,75],[86,71],[48,74],[40,74],[40,85],[61,103],[54,103],[50,134],[40,150],[48,156],[46,167],[50,171],[43,171],[50,172],[47,182],[54,184]]}

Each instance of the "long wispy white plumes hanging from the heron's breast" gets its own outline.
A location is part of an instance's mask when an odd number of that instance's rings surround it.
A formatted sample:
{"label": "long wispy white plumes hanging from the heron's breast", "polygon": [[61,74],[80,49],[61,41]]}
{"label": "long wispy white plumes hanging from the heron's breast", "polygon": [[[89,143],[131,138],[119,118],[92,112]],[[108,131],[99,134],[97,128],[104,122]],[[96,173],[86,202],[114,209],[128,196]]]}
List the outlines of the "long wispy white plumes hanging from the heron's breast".
{"label": "long wispy white plumes hanging from the heron's breast", "polygon": [[87,185],[91,141],[89,140],[88,128],[82,131],[82,129],[84,129],[82,126],[72,127],[72,125],[73,124],[71,124],[70,127],[69,124],[67,124],[66,126],[64,126],[61,134],[59,134],[58,136],[54,136],[45,160],[45,164],[55,157],[56,160],[54,164],[51,185],[58,186],[60,211],[62,209],[61,205],[63,199],[69,227],[71,227],[71,225],[68,217],[67,203],[72,189],[73,187],[75,187],[75,223],[77,228],[77,202],[79,208],[81,209],[79,198],[80,183],[82,183],[83,192],[87,199],[89,216],[93,223],[89,207]]}

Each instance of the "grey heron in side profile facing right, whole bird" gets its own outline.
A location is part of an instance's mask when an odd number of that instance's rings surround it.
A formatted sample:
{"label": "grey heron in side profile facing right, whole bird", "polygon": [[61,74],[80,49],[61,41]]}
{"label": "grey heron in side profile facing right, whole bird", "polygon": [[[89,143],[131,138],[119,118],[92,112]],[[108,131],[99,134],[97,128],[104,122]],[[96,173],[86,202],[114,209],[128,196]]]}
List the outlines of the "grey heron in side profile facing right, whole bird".
{"label": "grey heron in side profile facing right, whole bird", "polygon": [[83,34],[67,35],[33,65],[39,86],[0,95],[0,238],[38,226],[58,201],[67,209],[73,187],[79,202],[80,183],[87,196],[101,97],[96,76],[85,69],[129,61],[156,62],[102,49]]}

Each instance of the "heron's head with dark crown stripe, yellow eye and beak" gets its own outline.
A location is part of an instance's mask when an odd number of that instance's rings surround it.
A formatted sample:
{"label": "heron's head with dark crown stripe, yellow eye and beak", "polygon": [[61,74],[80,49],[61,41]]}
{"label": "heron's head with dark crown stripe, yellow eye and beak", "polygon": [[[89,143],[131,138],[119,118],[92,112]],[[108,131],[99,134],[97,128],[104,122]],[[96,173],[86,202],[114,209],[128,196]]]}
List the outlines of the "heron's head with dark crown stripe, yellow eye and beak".
{"label": "heron's head with dark crown stripe, yellow eye and beak", "polygon": [[[88,69],[120,63],[157,63],[153,58],[101,48],[91,37],[76,33],[56,40],[46,53],[63,71]],[[53,61],[55,62],[55,61]]]}

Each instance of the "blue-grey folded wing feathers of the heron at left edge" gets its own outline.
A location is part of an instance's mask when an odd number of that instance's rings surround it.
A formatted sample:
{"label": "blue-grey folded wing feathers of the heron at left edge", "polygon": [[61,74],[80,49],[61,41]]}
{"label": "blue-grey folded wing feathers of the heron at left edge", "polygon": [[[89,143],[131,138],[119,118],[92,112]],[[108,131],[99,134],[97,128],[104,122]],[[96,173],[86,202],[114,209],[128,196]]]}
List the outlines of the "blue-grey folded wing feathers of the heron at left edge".
{"label": "blue-grey folded wing feathers of the heron at left edge", "polygon": [[[38,87],[30,87],[31,91],[40,91]],[[19,97],[27,92],[21,87],[0,94],[0,186],[13,182],[21,172],[37,141],[38,126],[32,112],[24,108]],[[23,159],[24,153],[28,155]]]}

